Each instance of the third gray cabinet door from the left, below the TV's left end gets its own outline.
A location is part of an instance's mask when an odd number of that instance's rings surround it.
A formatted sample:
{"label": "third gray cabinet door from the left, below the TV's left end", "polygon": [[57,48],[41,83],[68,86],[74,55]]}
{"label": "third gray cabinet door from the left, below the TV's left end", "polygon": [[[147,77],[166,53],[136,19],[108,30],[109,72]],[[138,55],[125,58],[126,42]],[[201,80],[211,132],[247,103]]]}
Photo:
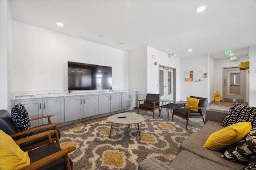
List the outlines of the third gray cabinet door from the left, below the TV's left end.
{"label": "third gray cabinet door from the left, below the TV's left end", "polygon": [[64,121],[72,121],[83,118],[83,98],[65,98]]}

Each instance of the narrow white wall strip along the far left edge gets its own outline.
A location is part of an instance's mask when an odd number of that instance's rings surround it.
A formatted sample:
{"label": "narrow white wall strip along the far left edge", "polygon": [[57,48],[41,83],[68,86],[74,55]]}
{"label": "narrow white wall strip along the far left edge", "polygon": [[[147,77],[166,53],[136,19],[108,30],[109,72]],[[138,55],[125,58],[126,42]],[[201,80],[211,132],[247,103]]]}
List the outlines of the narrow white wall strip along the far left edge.
{"label": "narrow white wall strip along the far left edge", "polygon": [[8,76],[7,76],[7,44],[8,44],[8,7],[6,0],[0,0],[0,109],[8,109]]}

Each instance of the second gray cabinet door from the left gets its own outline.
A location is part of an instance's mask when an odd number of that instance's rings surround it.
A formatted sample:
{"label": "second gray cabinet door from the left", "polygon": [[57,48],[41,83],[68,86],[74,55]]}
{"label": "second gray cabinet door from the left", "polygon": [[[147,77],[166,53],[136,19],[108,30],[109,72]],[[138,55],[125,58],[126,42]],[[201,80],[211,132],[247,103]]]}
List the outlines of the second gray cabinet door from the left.
{"label": "second gray cabinet door from the left", "polygon": [[[54,115],[51,118],[53,123],[64,122],[64,98],[43,100],[43,115]],[[48,123],[48,119],[43,119]]]}

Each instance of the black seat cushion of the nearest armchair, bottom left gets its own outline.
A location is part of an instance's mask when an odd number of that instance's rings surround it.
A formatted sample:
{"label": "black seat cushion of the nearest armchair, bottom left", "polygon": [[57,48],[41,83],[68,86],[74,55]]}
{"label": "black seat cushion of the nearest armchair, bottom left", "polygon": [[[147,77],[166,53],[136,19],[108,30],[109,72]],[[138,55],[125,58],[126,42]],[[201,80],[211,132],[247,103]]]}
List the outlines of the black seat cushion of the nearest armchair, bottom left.
{"label": "black seat cushion of the nearest armchair, bottom left", "polygon": [[[49,143],[48,145],[44,145],[40,148],[37,148],[35,150],[32,150],[28,152],[28,155],[30,157],[31,163],[36,162],[37,160],[40,160],[46,156],[49,156],[50,154],[56,153],[60,151],[61,148],[58,146],[56,142]],[[72,160],[69,161],[70,166],[72,167],[73,162]],[[37,170],[65,170],[65,160],[64,157],[58,158],[57,160],[54,160],[53,162],[50,162],[49,164],[46,164]]]}

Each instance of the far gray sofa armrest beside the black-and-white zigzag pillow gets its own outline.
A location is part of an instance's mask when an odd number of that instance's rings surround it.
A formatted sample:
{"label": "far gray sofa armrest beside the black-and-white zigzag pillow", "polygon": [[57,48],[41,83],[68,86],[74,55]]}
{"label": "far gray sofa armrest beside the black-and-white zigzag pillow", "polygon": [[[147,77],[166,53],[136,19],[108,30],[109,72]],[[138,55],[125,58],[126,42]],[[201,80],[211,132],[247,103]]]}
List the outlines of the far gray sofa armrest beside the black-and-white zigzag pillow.
{"label": "far gray sofa armrest beside the black-and-white zigzag pillow", "polygon": [[207,122],[208,120],[211,120],[211,121],[222,123],[222,121],[227,115],[228,115],[228,111],[206,109],[205,122]]}

